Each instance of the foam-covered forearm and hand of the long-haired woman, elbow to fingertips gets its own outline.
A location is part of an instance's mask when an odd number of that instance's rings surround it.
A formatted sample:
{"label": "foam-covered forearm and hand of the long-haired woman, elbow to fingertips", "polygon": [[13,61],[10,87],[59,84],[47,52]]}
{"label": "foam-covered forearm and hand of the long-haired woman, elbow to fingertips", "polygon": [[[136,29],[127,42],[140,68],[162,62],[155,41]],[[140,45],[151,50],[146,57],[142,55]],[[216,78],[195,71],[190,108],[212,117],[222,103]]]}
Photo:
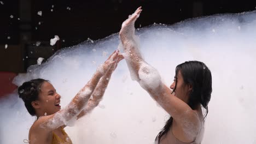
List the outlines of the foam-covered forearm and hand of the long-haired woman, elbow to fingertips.
{"label": "foam-covered forearm and hand of the long-haired woman, elbow to fingertips", "polygon": [[155,68],[144,61],[139,51],[134,24],[141,11],[142,9],[139,7],[135,13],[129,16],[129,19],[123,22],[119,36],[132,79],[138,81],[149,92],[161,86],[161,77]]}

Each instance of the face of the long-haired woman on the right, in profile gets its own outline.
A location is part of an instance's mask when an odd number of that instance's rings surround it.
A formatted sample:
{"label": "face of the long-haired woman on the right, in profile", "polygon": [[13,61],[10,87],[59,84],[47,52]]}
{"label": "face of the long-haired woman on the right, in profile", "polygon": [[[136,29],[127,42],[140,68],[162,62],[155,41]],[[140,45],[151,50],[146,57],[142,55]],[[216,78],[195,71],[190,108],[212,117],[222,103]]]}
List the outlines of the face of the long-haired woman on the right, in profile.
{"label": "face of the long-haired woman on the right, in profile", "polygon": [[183,76],[181,74],[181,70],[178,71],[178,74],[174,77],[173,83],[170,88],[174,91],[174,95],[183,100],[188,104],[189,100],[189,92],[192,87],[189,84],[186,84],[183,80]]}

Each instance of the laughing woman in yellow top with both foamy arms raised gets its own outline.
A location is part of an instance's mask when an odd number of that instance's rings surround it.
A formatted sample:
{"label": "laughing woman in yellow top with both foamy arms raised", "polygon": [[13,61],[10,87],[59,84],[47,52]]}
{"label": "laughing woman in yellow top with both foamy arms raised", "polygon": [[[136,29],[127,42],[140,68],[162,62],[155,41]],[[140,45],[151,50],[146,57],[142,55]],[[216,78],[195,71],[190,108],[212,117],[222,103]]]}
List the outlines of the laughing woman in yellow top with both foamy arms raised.
{"label": "laughing woman in yellow top with both foamy arms raised", "polygon": [[63,128],[90,112],[100,103],[110,76],[123,56],[115,51],[97,70],[72,101],[61,109],[61,96],[47,80],[34,79],[24,82],[19,88],[19,97],[24,100],[27,111],[37,120],[30,128],[28,142],[31,144],[72,143]]}

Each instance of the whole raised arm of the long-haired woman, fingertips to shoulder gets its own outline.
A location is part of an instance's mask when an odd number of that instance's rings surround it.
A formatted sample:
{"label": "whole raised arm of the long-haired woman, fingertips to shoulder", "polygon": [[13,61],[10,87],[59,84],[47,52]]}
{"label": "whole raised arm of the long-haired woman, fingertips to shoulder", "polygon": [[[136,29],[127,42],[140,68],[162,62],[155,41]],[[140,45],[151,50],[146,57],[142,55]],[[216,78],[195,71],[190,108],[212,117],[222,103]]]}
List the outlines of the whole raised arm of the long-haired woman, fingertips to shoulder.
{"label": "whole raised arm of the long-haired woman, fingertips to shoulder", "polygon": [[[131,75],[164,109],[170,113],[173,119],[183,123],[182,119],[197,118],[190,106],[172,94],[161,81],[158,71],[149,65],[141,56],[135,35],[135,21],[141,13],[139,7],[129,19],[123,22],[119,36],[124,48],[124,57],[130,69]],[[197,120],[196,120],[197,121]],[[184,124],[184,123],[183,123]]]}

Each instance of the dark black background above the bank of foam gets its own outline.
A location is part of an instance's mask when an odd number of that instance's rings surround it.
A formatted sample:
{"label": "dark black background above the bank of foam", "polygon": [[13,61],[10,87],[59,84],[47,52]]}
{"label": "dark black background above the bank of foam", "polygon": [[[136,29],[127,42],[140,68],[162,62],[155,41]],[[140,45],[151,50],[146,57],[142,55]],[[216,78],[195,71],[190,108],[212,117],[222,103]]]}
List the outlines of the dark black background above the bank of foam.
{"label": "dark black background above the bank of foam", "polygon": [[[119,32],[121,23],[139,6],[143,11],[136,27],[154,22],[171,25],[192,17],[241,13],[256,7],[256,1],[229,0],[0,1],[0,71],[15,74],[25,73],[29,65],[37,63],[38,57],[46,60],[63,47]],[[42,11],[42,16],[38,11]],[[61,40],[50,46],[54,35]],[[37,41],[40,46],[35,45]]]}

